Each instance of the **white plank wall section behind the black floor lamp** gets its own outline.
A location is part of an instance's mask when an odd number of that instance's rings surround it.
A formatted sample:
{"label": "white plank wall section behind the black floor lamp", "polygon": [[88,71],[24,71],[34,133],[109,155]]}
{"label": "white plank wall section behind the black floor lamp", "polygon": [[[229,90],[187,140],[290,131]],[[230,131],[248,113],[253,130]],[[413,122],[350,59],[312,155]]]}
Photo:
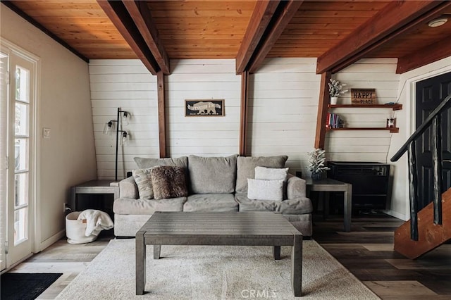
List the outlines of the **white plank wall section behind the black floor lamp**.
{"label": "white plank wall section behind the black floor lamp", "polygon": [[133,157],[159,157],[156,76],[139,60],[90,60],[92,120],[97,157],[97,177],[114,179],[116,136],[102,133],[117,109],[131,113],[130,141],[119,146],[118,178],[136,168]]}

